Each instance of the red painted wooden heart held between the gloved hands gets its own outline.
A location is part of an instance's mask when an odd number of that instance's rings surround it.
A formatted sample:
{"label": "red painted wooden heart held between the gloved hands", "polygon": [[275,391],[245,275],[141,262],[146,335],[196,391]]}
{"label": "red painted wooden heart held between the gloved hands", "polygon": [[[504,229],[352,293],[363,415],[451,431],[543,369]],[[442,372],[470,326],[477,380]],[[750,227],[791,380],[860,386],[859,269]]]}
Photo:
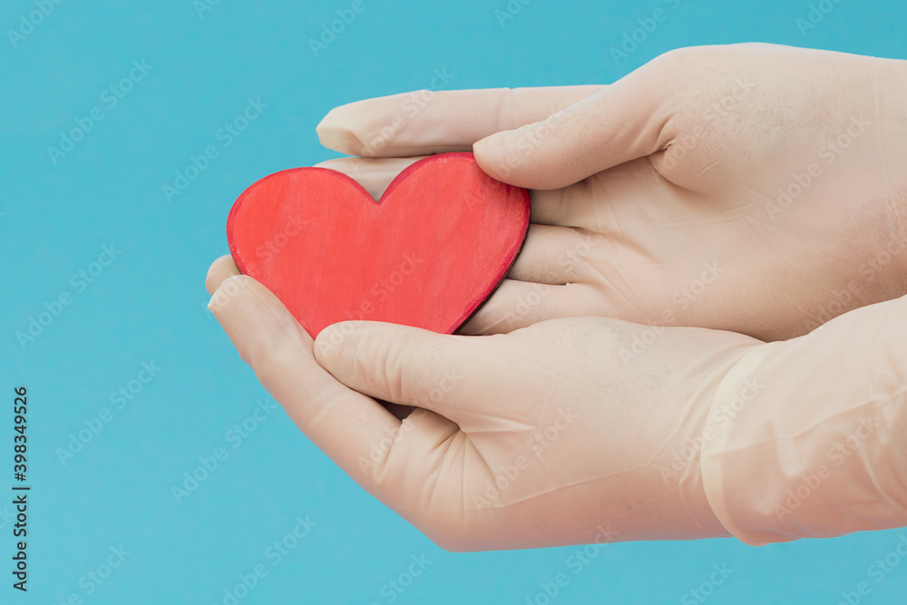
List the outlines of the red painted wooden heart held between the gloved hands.
{"label": "red painted wooden heart held between the gloved hands", "polygon": [[472,153],[401,172],[377,203],[323,168],[271,174],[227,219],[239,270],[315,337],[345,319],[453,333],[506,275],[529,228],[529,193],[495,181]]}

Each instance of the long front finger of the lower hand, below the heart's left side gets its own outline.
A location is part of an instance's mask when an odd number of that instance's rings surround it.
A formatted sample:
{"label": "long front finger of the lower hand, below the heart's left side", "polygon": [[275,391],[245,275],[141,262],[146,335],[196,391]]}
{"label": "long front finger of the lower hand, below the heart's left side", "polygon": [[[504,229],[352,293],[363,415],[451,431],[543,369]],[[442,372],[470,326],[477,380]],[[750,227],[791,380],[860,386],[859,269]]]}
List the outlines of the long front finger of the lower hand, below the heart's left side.
{"label": "long front finger of the lower hand, below the heart's left side", "polygon": [[[267,288],[248,276],[219,284],[214,317],[288,416],[346,473],[373,491],[377,479],[359,465],[401,424],[374,399],[336,381],[315,361],[312,339]],[[373,492],[374,493],[374,492]]]}

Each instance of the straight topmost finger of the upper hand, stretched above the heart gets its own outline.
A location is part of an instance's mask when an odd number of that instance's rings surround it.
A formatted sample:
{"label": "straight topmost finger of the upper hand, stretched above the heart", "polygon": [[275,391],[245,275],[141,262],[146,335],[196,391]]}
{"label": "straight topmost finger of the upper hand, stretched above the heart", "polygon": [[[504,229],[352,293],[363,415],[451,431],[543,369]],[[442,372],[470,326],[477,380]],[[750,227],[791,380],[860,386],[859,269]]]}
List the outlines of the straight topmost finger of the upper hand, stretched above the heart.
{"label": "straight topmost finger of the upper hand, stretched above the heart", "polygon": [[472,151],[475,141],[493,132],[543,120],[602,88],[552,86],[394,94],[336,107],[316,131],[322,145],[348,155],[406,157]]}

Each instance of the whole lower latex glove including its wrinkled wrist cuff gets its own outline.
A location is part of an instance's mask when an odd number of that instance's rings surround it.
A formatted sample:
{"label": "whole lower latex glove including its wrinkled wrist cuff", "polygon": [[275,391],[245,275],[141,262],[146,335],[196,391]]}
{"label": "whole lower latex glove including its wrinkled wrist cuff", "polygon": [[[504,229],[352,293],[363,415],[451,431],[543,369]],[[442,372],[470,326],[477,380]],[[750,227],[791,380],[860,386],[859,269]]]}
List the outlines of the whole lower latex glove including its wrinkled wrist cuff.
{"label": "whole lower latex glove including its wrinkled wrist cuff", "polygon": [[[445,549],[731,532],[759,542],[907,524],[907,461],[897,439],[905,428],[904,299],[770,348],[731,332],[666,328],[628,362],[621,351],[651,328],[562,318],[463,337],[346,322],[313,346],[229,257],[212,265],[207,286],[239,355],[297,426]],[[861,365],[851,366],[850,351]],[[777,362],[788,358],[802,363]],[[823,383],[826,375],[839,382]],[[743,420],[735,398],[752,399],[746,388],[756,398]],[[416,409],[401,421],[375,398]],[[740,420],[726,424],[729,410]],[[792,476],[831,446],[822,439],[863,414],[883,418],[884,428],[816,489],[821,497],[785,519],[793,525],[773,525],[766,493],[783,502]]]}

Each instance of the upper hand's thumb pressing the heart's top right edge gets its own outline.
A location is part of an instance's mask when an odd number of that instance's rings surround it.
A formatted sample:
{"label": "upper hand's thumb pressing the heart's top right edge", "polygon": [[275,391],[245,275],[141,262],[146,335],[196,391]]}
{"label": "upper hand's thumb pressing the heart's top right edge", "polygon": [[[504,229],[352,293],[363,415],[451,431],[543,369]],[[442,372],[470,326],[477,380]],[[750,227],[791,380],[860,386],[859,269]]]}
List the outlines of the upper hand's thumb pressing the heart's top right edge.
{"label": "upper hand's thumb pressing the heart's top right edge", "polygon": [[662,55],[599,93],[541,122],[496,132],[473,145],[498,181],[527,189],[566,187],[626,161],[663,151],[673,137],[670,80]]}

